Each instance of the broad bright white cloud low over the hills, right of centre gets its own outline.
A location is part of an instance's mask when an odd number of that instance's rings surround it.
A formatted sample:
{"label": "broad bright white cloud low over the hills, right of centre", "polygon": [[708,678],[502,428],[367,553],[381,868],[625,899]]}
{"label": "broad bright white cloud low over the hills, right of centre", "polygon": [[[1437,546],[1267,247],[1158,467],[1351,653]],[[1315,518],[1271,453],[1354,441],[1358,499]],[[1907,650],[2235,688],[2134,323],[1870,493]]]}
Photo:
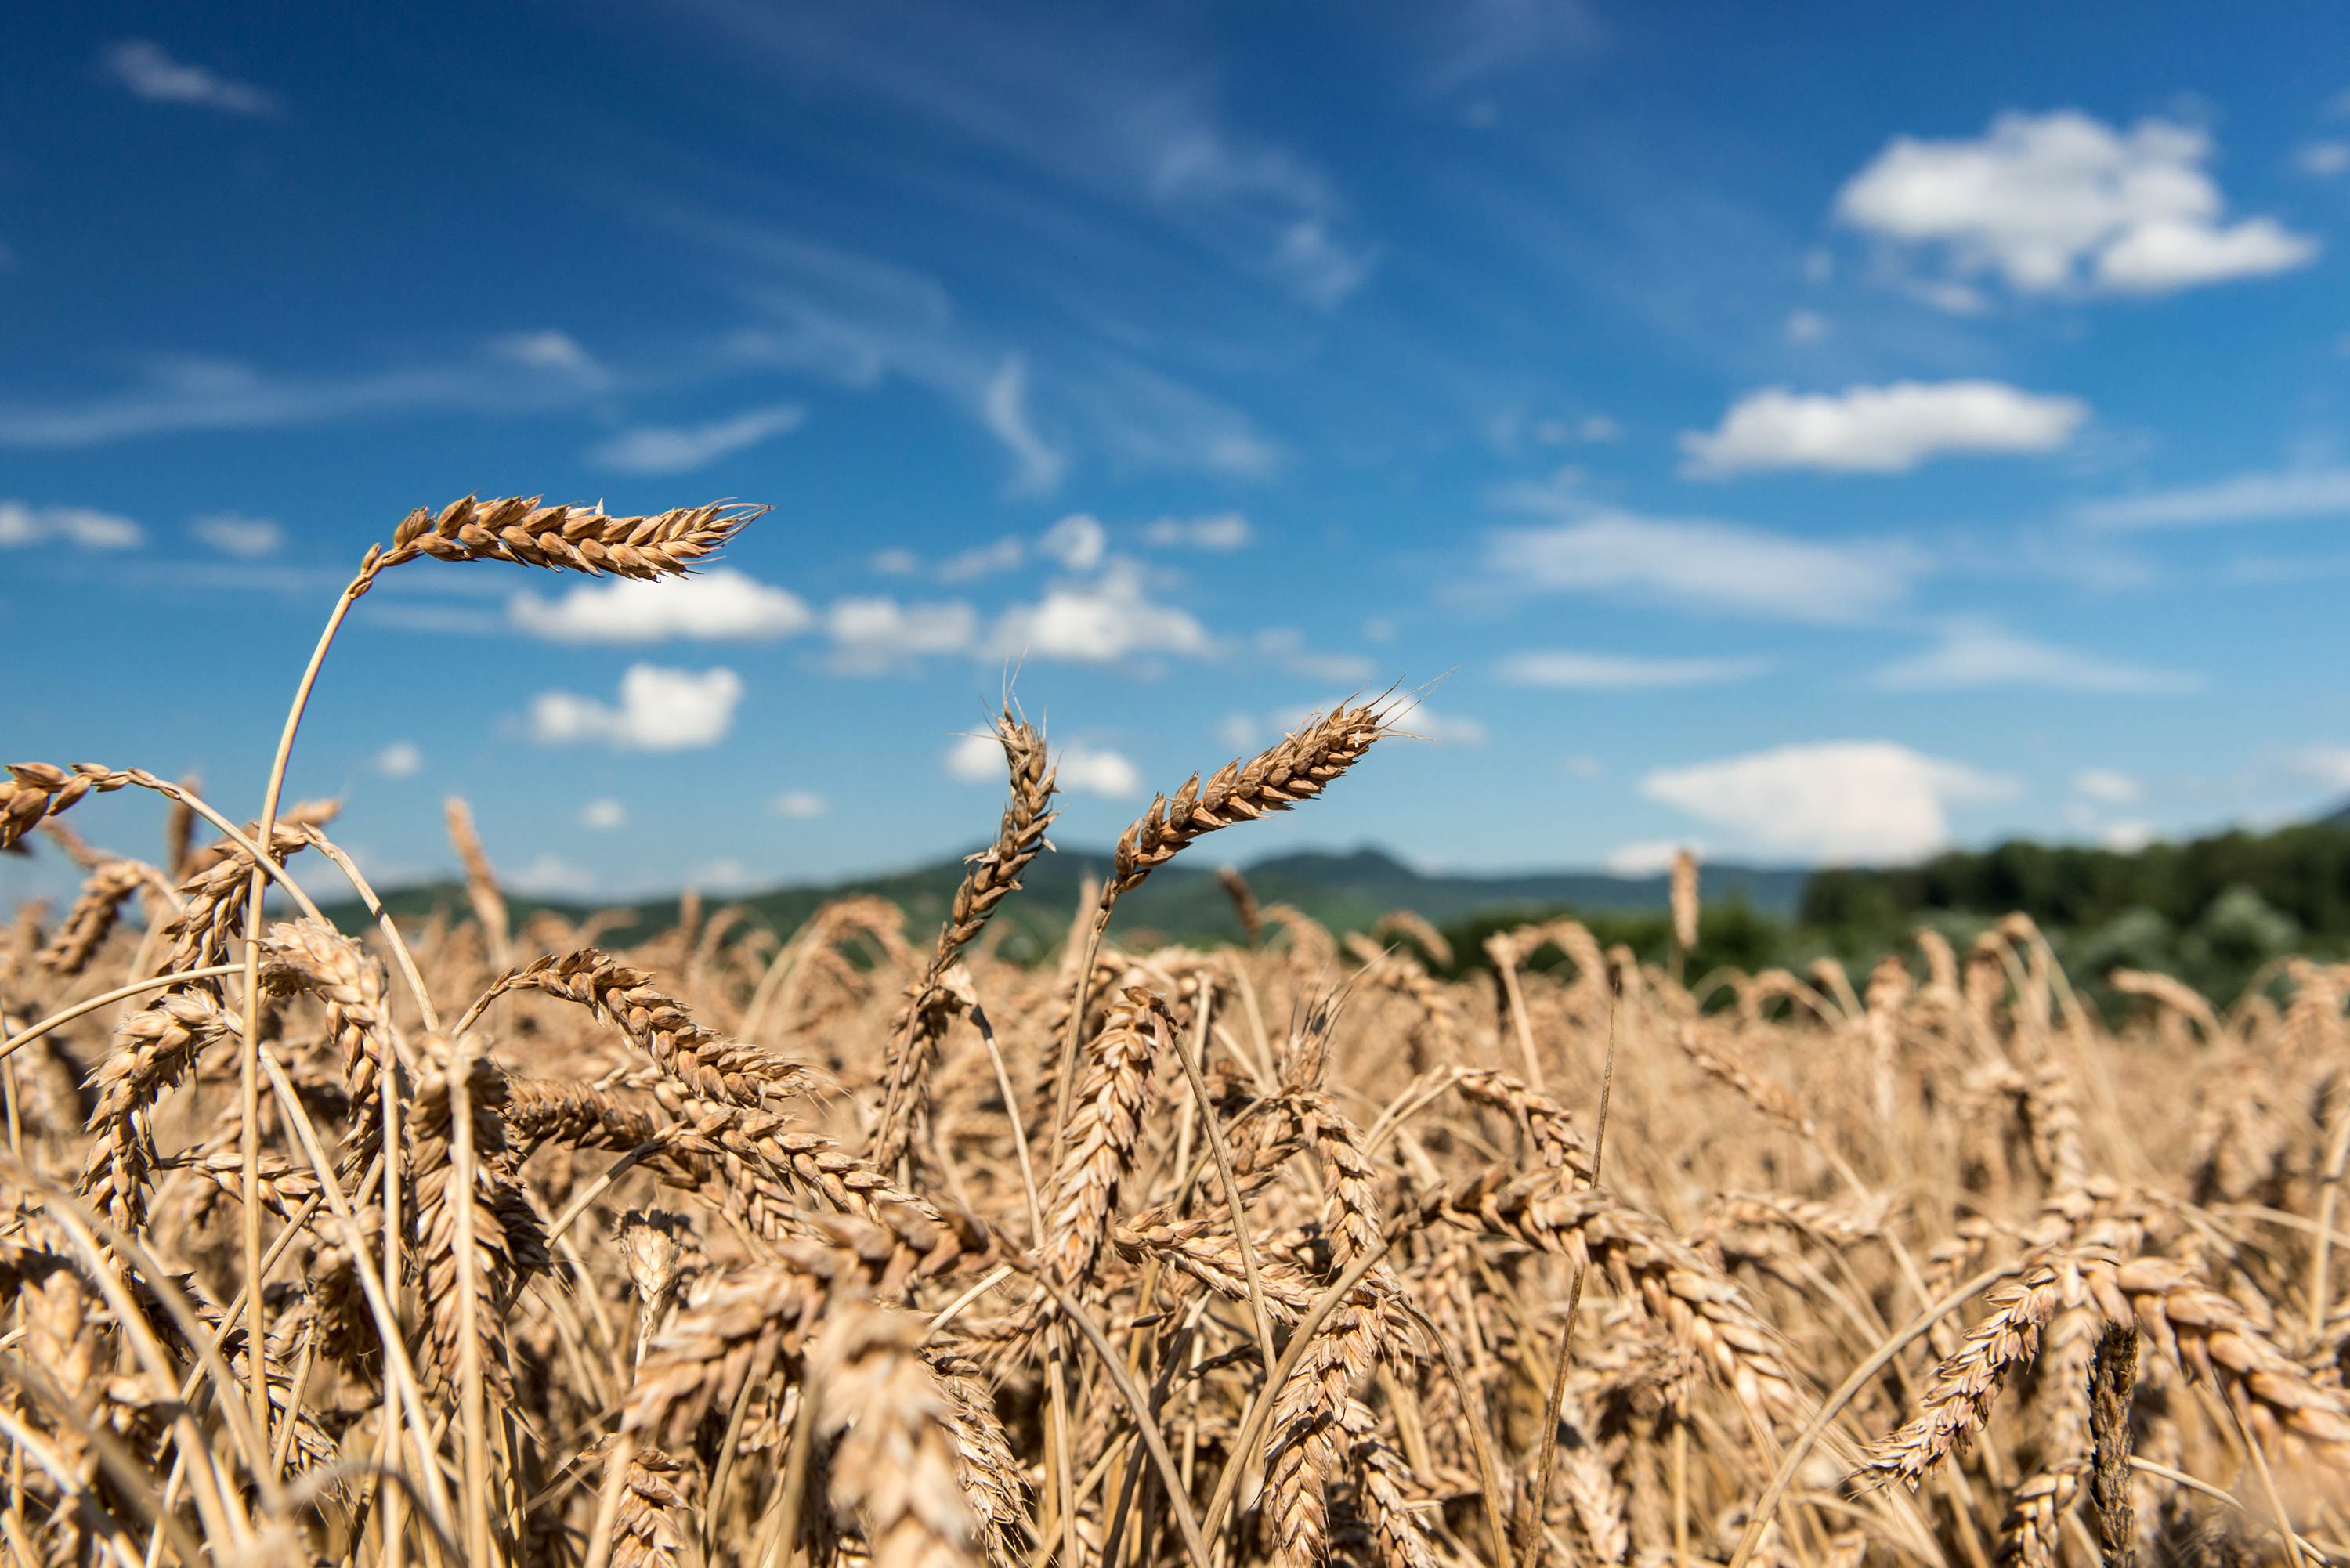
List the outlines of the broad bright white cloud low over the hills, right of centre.
{"label": "broad bright white cloud low over the hills, right of centre", "polygon": [[1946,806],[2002,799],[2014,780],[1892,741],[1821,741],[1657,769],[1650,799],[1680,806],[1760,853],[1894,863],[1950,839]]}

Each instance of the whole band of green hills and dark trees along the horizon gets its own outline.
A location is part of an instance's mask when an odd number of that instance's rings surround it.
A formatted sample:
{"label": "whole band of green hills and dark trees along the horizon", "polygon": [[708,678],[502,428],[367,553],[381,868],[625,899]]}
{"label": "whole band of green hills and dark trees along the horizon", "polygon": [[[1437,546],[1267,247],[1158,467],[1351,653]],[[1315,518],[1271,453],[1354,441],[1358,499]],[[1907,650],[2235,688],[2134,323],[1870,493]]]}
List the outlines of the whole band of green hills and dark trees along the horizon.
{"label": "whole band of green hills and dark trees along the horizon", "polygon": [[[1065,851],[1032,865],[1025,896],[1003,910],[1003,957],[1027,961],[1050,952],[1076,910],[1083,877],[1104,863],[1107,853]],[[827,898],[879,893],[921,929],[945,914],[961,872],[959,860],[940,860],[888,877],[776,889],[743,903],[754,919],[792,931]],[[1260,860],[1248,879],[1260,903],[1290,903],[1332,931],[1365,931],[1386,910],[1415,910],[1452,943],[1452,964],[1431,964],[1448,976],[1488,969],[1485,938],[1495,931],[1563,914],[1582,919],[1600,945],[1622,943],[1647,964],[1671,954],[1664,877],[1445,877],[1361,849]],[[2287,952],[2350,952],[2350,820],[2268,835],[2223,832],[2131,853],[2012,842],[1892,870],[1805,875],[1711,865],[1704,884],[1706,912],[1699,945],[1687,954],[1690,976],[1772,964],[1805,973],[1821,957],[1861,976],[1885,952],[1908,950],[1918,926],[1934,926],[1965,947],[1998,917],[2021,910],[2113,1016],[2103,976],[2117,966],[2171,973],[2230,1001]],[[580,905],[512,903],[517,922],[536,907],[557,907],[571,919],[588,914]],[[409,889],[390,905],[404,917],[442,907],[458,919],[465,893],[456,884]],[[665,931],[677,919],[674,898],[632,910],[632,924],[611,929],[613,945]],[[345,931],[360,924],[357,905],[331,914]],[[1241,924],[1213,872],[1177,865],[1121,903],[1119,931],[1137,945],[1227,943],[1238,940]],[[1556,947],[1532,957],[1535,969],[1563,961]]]}

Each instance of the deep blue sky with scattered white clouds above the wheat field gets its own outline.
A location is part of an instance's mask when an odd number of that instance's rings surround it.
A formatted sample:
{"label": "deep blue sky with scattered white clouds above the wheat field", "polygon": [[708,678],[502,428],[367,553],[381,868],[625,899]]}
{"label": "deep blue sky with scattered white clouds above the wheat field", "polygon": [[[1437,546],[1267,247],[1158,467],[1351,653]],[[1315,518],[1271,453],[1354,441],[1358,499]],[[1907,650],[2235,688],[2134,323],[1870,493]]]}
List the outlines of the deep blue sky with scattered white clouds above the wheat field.
{"label": "deep blue sky with scattered white clouds above the wheat field", "polygon": [[2345,252],[2317,5],[14,7],[0,750],[251,813],[411,505],[740,496],[684,585],[397,569],[294,790],[385,882],[451,792],[540,891],[893,867],[1018,663],[1062,844],[1438,679],[1222,849],[2289,820]]}

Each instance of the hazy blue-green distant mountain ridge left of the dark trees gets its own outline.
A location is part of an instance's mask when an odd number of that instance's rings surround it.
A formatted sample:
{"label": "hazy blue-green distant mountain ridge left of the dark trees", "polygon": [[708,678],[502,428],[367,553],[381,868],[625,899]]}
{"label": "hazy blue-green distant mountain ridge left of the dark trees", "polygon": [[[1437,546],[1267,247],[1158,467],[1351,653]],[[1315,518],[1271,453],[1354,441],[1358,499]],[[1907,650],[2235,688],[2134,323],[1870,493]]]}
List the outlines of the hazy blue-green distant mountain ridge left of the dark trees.
{"label": "hazy blue-green distant mountain ridge left of the dark trees", "polygon": [[[1194,851],[1198,853],[1198,851]],[[1100,877],[1109,867],[1109,851],[1065,849],[1039,856],[1022,877],[999,919],[1010,926],[1003,938],[1008,954],[1020,945],[1041,952],[1060,940],[1086,877]],[[1152,875],[1142,889],[1119,903],[1116,926],[1121,931],[1156,931],[1173,940],[1238,938],[1241,922],[1231,900],[1215,879],[1215,860],[1175,860]],[[1323,922],[1332,931],[1363,931],[1389,910],[1412,910],[1438,926],[1448,926],[1476,914],[1499,910],[1582,910],[1582,912],[1638,912],[1661,910],[1668,900],[1666,877],[1610,877],[1605,872],[1528,872],[1516,877],[1452,877],[1422,875],[1394,856],[1377,849],[1354,853],[1292,853],[1271,856],[1246,867],[1248,886],[1257,903],[1290,903]],[[736,900],[705,900],[705,907],[721,903],[747,905],[757,919],[778,931],[797,929],[830,898],[848,893],[874,893],[888,898],[907,912],[907,931],[921,940],[947,914],[956,884],[964,879],[961,860],[938,860],[884,877],[851,877],[832,884],[785,886],[752,893]],[[1708,903],[1744,898],[1755,912],[1788,917],[1802,905],[1810,872],[1805,870],[1758,870],[1741,865],[1704,867],[1704,893]],[[449,919],[465,919],[465,889],[454,882],[400,889],[383,896],[385,907],[402,919],[423,919],[444,910]],[[519,926],[536,910],[557,910],[571,922],[585,919],[597,907],[573,900],[538,900],[524,896],[508,898]],[[658,898],[618,905],[634,912],[634,922],[613,926],[609,940],[627,945],[665,931],[677,922],[677,900]],[[357,931],[367,914],[357,903],[329,905],[324,910],[345,931]]]}

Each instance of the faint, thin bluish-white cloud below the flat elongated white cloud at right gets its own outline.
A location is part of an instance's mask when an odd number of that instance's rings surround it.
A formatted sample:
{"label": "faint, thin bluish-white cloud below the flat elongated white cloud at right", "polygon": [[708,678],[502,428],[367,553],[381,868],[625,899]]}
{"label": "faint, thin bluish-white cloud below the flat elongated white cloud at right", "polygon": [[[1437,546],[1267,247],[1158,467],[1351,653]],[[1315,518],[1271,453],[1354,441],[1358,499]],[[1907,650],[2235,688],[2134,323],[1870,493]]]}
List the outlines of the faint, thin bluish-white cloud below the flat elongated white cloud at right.
{"label": "faint, thin bluish-white cloud below the flat elongated white cloud at right", "polygon": [[1553,527],[1497,529],[1485,564],[1513,588],[1633,590],[1784,621],[1868,616],[1901,602],[1925,567],[1899,543],[1828,543],[1737,522],[1610,510]]}

